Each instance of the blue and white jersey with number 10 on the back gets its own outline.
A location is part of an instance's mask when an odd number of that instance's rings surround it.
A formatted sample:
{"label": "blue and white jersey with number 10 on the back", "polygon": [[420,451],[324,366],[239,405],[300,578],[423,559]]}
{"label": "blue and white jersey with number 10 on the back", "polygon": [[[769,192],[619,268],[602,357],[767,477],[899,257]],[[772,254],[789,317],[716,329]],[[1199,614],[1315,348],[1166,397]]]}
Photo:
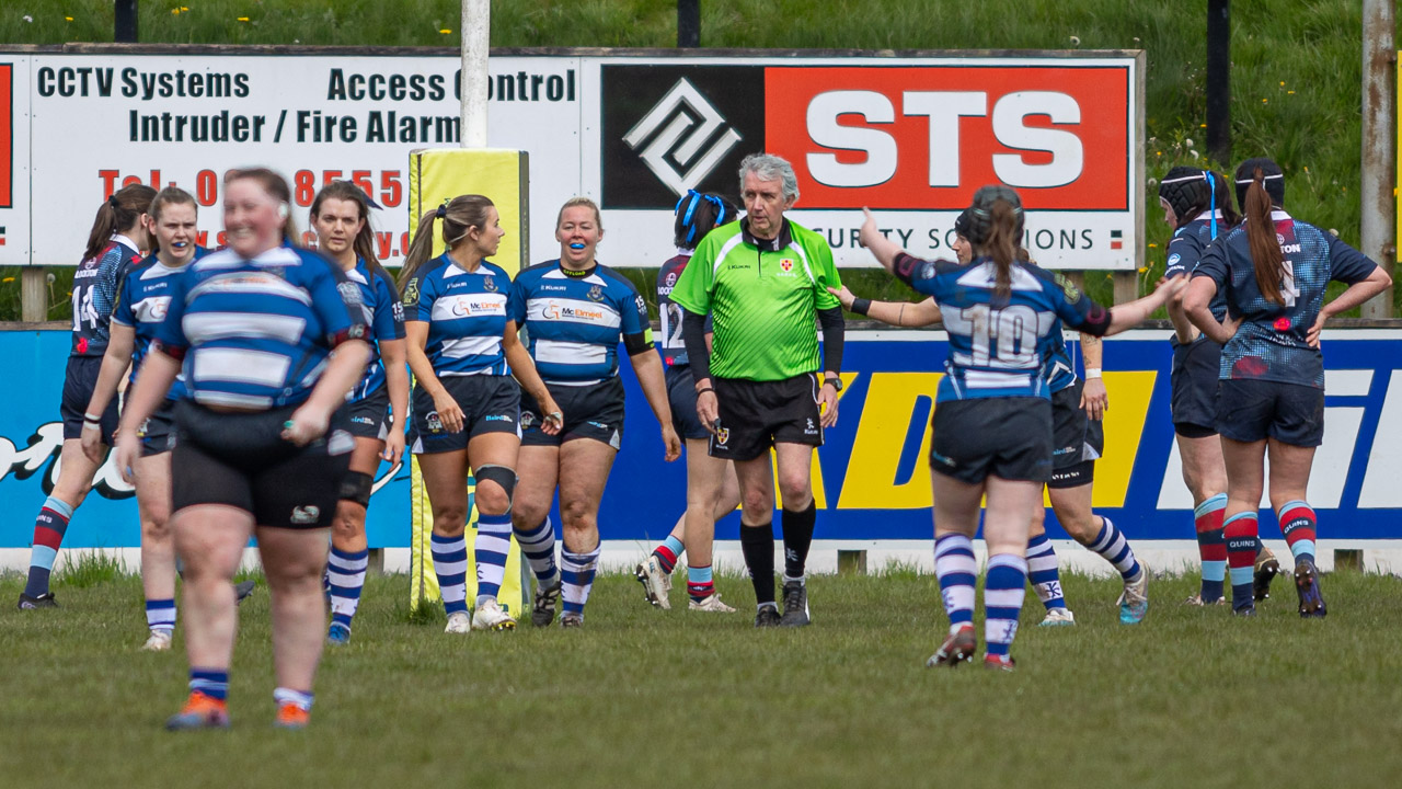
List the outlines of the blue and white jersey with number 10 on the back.
{"label": "blue and white jersey with number 10 on the back", "polygon": [[901,253],[894,274],[939,303],[949,333],[946,375],[937,403],[979,397],[1050,397],[1044,364],[1061,341],[1060,323],[1101,336],[1110,313],[1060,274],[1012,265],[1012,292],[994,303],[995,267],[927,261]]}

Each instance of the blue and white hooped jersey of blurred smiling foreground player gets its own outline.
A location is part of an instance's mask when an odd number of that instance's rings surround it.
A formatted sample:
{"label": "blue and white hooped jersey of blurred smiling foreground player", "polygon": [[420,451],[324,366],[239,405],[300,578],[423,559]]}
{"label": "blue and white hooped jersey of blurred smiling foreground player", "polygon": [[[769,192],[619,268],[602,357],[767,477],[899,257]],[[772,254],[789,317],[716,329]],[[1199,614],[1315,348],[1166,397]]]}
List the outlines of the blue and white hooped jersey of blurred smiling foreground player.
{"label": "blue and white hooped jersey of blurred smiling foreground player", "polygon": [[332,348],[369,331],[360,288],[329,260],[293,247],[245,260],[226,248],[175,279],[154,340],[184,358],[196,403],[275,409],[306,400]]}

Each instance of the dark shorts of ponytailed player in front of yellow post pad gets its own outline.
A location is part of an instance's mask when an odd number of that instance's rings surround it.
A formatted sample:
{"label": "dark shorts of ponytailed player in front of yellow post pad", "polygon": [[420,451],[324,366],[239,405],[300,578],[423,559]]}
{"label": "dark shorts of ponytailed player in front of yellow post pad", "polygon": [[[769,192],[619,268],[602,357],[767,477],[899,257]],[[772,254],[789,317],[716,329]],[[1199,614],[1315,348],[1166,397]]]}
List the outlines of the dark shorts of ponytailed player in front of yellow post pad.
{"label": "dark shorts of ponytailed player in front of yellow post pad", "polygon": [[439,379],[463,409],[463,430],[449,432],[433,409],[433,397],[414,387],[409,404],[409,446],[415,455],[457,452],[484,432],[520,437],[522,387],[509,375],[446,375]]}

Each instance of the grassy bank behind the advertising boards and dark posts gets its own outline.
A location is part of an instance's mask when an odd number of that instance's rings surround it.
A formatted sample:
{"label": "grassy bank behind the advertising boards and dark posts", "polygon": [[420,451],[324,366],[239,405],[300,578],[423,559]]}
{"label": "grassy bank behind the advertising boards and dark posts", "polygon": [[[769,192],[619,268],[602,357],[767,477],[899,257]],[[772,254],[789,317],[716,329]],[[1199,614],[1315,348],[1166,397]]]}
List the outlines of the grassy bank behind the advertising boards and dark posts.
{"label": "grassy bank behind the advertising boards and dark posts", "polygon": [[[179,11],[179,13],[172,13]],[[24,21],[32,17],[32,22]],[[72,21],[67,20],[72,17]],[[247,18],[247,21],[238,21]],[[186,0],[140,3],[140,38],[161,44],[457,46],[460,0]],[[449,32],[442,32],[449,31]],[[795,49],[1144,49],[1147,168],[1144,292],[1164,268],[1169,236],[1155,209],[1157,178],[1202,163],[1206,129],[1203,3],[1023,0],[707,0],[701,44]],[[0,8],[0,42],[111,41],[111,0],[14,0]],[[1357,0],[1238,0],[1232,4],[1232,154],[1274,157],[1297,216],[1359,243],[1361,10]],[[510,0],[492,3],[494,46],[656,46],[676,44],[674,0]],[[1388,174],[1387,177],[1391,177]],[[1364,250],[1367,251],[1367,250]],[[651,292],[655,271],[644,270]],[[914,298],[885,274],[851,271],[854,292]],[[0,320],[18,298],[0,285]],[[57,291],[66,292],[60,281]],[[1087,292],[1112,300],[1106,275]],[[1402,303],[1402,288],[1395,289]],[[13,305],[13,306],[11,306]],[[63,320],[67,306],[50,317]]]}

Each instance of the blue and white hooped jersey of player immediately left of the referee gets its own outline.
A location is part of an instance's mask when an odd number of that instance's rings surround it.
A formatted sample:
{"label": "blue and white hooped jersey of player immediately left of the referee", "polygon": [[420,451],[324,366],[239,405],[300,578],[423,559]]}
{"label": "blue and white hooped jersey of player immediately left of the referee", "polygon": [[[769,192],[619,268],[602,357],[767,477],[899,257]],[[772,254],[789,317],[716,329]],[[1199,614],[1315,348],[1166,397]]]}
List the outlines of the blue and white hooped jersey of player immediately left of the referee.
{"label": "blue and white hooped jersey of player immediately left of the referee", "polygon": [[648,302],[632,282],[594,264],[566,272],[558,260],[516,275],[513,309],[530,334],[530,355],[547,383],[586,386],[618,375],[618,343],[652,351]]}

